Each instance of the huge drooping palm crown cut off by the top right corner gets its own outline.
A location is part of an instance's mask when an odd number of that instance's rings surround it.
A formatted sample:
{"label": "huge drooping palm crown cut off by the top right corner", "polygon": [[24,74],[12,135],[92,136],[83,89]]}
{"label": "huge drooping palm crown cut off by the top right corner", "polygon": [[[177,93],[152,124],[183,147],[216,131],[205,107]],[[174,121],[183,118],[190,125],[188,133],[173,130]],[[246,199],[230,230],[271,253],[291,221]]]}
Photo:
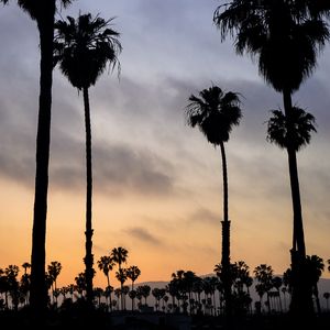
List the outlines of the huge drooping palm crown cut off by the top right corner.
{"label": "huge drooping palm crown cut off by the top right corner", "polygon": [[277,91],[293,92],[311,75],[330,37],[324,20],[329,9],[320,1],[315,1],[318,6],[311,2],[233,0],[217,8],[213,22],[222,40],[235,35],[238,54],[257,58],[266,82]]}

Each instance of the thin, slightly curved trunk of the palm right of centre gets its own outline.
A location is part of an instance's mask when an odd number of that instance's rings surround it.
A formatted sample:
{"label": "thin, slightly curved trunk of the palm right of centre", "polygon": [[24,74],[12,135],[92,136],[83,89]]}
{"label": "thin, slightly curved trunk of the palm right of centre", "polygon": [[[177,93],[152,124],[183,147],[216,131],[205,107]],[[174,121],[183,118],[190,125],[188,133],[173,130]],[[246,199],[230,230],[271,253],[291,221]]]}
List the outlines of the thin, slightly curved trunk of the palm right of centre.
{"label": "thin, slightly curved trunk of the palm right of centre", "polygon": [[222,177],[223,177],[223,221],[222,224],[222,276],[223,294],[224,294],[224,314],[229,321],[232,315],[231,306],[231,282],[230,282],[230,221],[228,219],[228,174],[227,161],[223,142],[220,143],[221,158],[222,158]]}

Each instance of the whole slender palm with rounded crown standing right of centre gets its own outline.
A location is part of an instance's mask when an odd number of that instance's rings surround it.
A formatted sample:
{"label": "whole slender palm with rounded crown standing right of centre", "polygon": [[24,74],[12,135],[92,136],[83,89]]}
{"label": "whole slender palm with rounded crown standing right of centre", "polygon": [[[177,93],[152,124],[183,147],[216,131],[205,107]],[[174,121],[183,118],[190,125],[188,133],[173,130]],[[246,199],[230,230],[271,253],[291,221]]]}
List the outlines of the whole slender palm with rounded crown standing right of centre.
{"label": "whole slender palm with rounded crown standing right of centre", "polygon": [[235,92],[224,92],[218,86],[211,86],[199,92],[199,97],[191,95],[187,107],[188,123],[193,128],[198,125],[208,142],[220,146],[223,177],[223,220],[222,223],[222,275],[224,286],[226,315],[230,318],[231,283],[230,283],[230,220],[228,216],[228,174],[224,142],[229,141],[233,125],[240,123],[242,117],[240,98]]}

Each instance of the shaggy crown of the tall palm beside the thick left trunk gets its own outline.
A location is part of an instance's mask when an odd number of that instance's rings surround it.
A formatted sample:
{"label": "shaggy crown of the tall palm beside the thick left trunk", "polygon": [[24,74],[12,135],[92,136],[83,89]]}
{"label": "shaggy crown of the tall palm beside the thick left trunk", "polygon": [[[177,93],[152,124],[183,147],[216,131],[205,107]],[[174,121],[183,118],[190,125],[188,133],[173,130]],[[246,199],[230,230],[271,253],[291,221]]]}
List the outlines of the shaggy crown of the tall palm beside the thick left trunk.
{"label": "shaggy crown of the tall palm beside the thick left trunk", "polygon": [[63,74],[78,89],[95,85],[108,63],[112,68],[119,65],[118,54],[122,47],[119,33],[110,28],[113,19],[92,19],[82,14],[77,21],[67,16],[68,22],[57,21],[55,26],[55,62],[59,61]]}

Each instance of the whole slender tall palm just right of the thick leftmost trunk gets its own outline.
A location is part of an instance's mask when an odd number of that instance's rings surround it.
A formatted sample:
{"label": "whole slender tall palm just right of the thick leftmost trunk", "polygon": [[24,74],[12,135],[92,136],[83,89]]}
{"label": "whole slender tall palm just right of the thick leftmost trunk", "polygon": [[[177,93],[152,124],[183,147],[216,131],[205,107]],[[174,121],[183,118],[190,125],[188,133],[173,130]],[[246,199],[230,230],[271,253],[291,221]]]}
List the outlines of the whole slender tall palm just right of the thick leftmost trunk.
{"label": "whole slender tall palm just right of the thick leftmost trunk", "polygon": [[119,33],[110,29],[111,20],[103,20],[91,14],[81,14],[75,20],[72,16],[66,21],[57,21],[55,24],[55,62],[59,62],[62,73],[70,84],[82,90],[85,107],[86,129],[86,284],[87,301],[92,304],[92,170],[91,170],[91,127],[89,88],[94,86],[100,75],[110,64],[112,68],[118,62],[121,44],[118,41]]}

